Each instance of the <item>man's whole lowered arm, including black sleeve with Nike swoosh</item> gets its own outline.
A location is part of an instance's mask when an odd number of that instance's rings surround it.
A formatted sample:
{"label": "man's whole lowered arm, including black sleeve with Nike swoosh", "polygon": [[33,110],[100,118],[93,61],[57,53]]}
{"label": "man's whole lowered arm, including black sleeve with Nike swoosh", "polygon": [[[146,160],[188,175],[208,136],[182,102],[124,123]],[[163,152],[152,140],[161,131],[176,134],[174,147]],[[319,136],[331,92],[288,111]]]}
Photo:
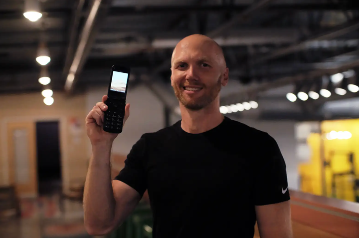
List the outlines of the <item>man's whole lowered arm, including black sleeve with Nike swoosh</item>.
{"label": "man's whole lowered arm, including black sleeve with Nike swoosh", "polygon": [[292,238],[290,195],[286,164],[277,142],[268,134],[258,137],[254,205],[261,238]]}

